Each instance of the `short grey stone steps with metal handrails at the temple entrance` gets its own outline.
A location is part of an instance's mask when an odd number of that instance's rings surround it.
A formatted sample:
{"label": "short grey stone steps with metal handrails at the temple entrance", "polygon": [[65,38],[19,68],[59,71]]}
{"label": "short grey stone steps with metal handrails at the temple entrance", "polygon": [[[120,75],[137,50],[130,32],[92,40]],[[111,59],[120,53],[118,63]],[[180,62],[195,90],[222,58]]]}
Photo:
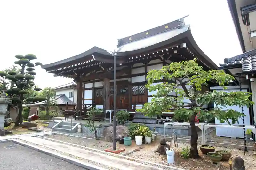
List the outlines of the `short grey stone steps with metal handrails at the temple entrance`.
{"label": "short grey stone steps with metal handrails at the temple entrance", "polygon": [[66,133],[76,133],[78,129],[77,126],[79,124],[80,123],[72,123],[71,125],[71,122],[60,121],[52,127],[52,130]]}

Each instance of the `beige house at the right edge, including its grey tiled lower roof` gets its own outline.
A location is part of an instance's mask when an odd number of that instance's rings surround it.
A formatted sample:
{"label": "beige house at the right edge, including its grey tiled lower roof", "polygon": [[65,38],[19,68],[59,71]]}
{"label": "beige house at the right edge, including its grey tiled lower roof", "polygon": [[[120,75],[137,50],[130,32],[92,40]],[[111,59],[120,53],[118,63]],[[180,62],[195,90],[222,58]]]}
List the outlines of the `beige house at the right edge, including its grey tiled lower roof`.
{"label": "beige house at the right edge, including its grey tiled lower roof", "polygon": [[[236,77],[236,85],[241,81],[248,92],[252,92],[252,101],[256,103],[256,2],[255,0],[228,0],[237,36],[243,54],[225,58],[220,69]],[[250,123],[256,123],[256,106],[249,108]],[[248,121],[248,120],[247,120]]]}

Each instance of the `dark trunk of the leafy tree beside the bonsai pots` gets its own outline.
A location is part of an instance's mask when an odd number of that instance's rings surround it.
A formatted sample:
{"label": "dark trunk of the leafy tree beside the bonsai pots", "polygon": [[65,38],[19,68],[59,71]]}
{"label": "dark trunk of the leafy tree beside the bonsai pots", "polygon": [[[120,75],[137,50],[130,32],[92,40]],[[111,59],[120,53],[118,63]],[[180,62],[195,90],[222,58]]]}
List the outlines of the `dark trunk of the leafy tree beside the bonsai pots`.
{"label": "dark trunk of the leafy tree beside the bonsai pots", "polygon": [[190,139],[190,156],[191,158],[200,158],[198,155],[198,148],[197,148],[197,140],[198,134],[195,125],[195,115],[191,116],[189,119],[189,123],[191,126],[191,139]]}

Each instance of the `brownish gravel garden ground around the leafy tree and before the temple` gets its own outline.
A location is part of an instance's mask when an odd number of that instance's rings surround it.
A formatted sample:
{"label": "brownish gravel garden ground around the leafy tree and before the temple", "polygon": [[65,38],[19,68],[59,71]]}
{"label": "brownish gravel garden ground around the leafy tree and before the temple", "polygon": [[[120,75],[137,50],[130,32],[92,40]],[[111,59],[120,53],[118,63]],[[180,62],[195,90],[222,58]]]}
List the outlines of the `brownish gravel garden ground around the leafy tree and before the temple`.
{"label": "brownish gravel garden ground around the leafy tree and before the temple", "polygon": [[[78,138],[78,137],[70,137],[67,135],[60,135],[60,134],[49,135],[49,136],[44,136],[44,137],[48,137],[51,139],[60,140],[60,141],[68,142],[68,143],[73,143],[73,144],[77,144],[77,145],[81,145],[81,146],[86,146],[86,147],[90,147],[90,148],[95,148],[95,149],[99,149],[99,150],[104,150],[105,148],[108,148],[112,145],[112,143],[106,142],[102,138],[99,141],[95,141],[94,139],[82,139],[82,138]],[[189,143],[182,143],[182,142],[178,143],[180,150],[182,147],[186,147],[186,146],[189,147],[189,145],[190,145]],[[132,157],[135,159],[141,159],[141,160],[145,160],[145,161],[150,161],[150,162],[155,162],[158,164],[168,165],[166,155],[159,156],[158,153],[154,153],[154,150],[157,148],[157,146],[158,146],[158,142],[155,141],[154,143],[152,143],[150,145],[146,145],[143,149],[140,149],[140,151],[132,152],[131,154],[129,154],[129,157]],[[216,146],[216,150],[230,151],[232,158],[235,158],[237,156],[242,157],[244,159],[246,169],[247,170],[255,170],[256,164],[254,161],[255,161],[256,156],[253,155],[254,152],[249,151],[246,153],[246,155],[244,155],[243,150],[236,149],[236,148],[237,147],[235,147],[235,146],[225,146],[225,147],[220,147],[220,145]],[[205,156],[201,153],[200,149],[198,149],[198,150],[199,150],[199,155],[202,157],[202,159],[188,159],[188,160],[178,158],[177,148],[174,148],[174,149],[176,151],[175,164],[169,165],[169,166],[175,166],[175,167],[184,168],[184,169],[188,169],[188,170],[226,170],[226,169],[229,169],[228,162],[221,161],[221,165],[219,167],[214,167],[214,166],[210,165],[210,160],[207,158],[207,156]],[[118,157],[118,155],[116,155],[116,156]],[[125,159],[125,158],[123,158],[123,159]],[[132,160],[132,159],[130,159],[130,160]],[[134,160],[132,160],[132,161],[134,161]],[[140,162],[140,161],[139,161],[139,163],[147,164],[150,166],[156,166],[154,164],[149,164],[149,163]],[[159,167],[159,166],[157,166],[157,167]],[[163,168],[163,167],[161,167],[161,168]],[[168,168],[164,168],[164,169],[168,169]]]}

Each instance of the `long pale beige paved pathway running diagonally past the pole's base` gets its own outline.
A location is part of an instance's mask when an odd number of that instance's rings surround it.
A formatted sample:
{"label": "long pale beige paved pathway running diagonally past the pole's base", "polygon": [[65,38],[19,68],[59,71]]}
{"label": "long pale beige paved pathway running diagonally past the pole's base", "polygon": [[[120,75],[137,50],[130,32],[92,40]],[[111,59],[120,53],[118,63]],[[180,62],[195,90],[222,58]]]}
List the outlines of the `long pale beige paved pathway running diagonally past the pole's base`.
{"label": "long pale beige paved pathway running diagonally past the pole's base", "polygon": [[90,161],[94,161],[100,164],[104,164],[107,166],[111,166],[114,168],[122,169],[122,170],[163,170],[162,168],[156,168],[148,165],[143,165],[137,162],[133,162],[130,160],[126,159],[120,159],[116,157],[112,157],[109,155],[97,153],[97,152],[92,152],[89,150],[65,145],[65,144],[60,144],[56,142],[52,142],[49,140],[37,138],[37,137],[32,137],[32,136],[21,136],[19,137],[20,139],[38,144],[50,149],[58,150],[60,152],[65,152],[83,159],[87,159]]}

